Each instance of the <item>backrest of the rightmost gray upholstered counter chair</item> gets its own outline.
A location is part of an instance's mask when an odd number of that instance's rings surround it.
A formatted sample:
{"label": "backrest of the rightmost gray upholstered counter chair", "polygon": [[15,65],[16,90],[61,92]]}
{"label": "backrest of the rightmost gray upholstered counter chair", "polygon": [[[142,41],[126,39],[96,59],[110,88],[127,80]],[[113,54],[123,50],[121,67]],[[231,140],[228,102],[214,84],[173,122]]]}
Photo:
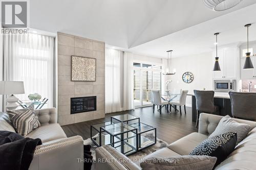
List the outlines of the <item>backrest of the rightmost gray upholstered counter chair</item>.
{"label": "backrest of the rightmost gray upholstered counter chair", "polygon": [[256,93],[229,91],[233,117],[256,120]]}

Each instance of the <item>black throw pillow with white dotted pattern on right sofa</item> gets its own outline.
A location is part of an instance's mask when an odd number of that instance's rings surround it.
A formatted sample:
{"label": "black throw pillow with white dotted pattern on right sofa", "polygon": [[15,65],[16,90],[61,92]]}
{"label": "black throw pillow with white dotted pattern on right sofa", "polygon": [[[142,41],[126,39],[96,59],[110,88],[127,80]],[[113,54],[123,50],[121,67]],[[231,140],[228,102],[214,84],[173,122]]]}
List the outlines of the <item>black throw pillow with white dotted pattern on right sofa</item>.
{"label": "black throw pillow with white dotted pattern on right sofa", "polygon": [[216,165],[220,164],[234,151],[237,143],[237,133],[227,132],[205,139],[193,149],[189,155],[208,155],[217,157]]}

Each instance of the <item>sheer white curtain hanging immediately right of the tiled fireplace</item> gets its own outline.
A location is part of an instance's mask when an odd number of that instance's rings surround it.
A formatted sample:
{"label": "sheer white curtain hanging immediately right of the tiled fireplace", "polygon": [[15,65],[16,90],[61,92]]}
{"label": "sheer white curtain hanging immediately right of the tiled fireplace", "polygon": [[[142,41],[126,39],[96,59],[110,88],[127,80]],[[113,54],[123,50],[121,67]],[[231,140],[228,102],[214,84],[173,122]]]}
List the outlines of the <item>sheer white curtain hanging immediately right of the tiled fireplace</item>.
{"label": "sheer white curtain hanging immediately right of the tiled fireplace", "polygon": [[120,56],[121,51],[105,50],[105,113],[120,111]]}

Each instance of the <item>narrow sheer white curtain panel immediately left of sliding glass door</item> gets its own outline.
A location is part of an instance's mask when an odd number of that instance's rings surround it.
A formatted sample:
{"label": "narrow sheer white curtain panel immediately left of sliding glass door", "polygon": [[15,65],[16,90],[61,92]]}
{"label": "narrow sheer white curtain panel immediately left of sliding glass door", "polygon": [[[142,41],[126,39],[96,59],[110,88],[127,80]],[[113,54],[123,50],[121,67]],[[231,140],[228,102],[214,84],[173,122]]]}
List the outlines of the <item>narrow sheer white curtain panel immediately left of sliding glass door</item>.
{"label": "narrow sheer white curtain panel immediately left of sliding glass door", "polygon": [[123,110],[134,109],[133,105],[133,53],[124,52],[123,59]]}

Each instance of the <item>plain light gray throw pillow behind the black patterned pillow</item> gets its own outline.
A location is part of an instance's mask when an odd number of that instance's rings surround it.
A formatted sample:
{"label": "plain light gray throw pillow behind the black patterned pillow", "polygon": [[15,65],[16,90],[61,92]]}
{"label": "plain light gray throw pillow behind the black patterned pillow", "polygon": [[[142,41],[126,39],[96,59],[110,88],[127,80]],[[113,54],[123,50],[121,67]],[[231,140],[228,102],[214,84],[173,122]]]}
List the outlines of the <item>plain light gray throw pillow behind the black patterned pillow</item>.
{"label": "plain light gray throw pillow behind the black patterned pillow", "polygon": [[240,143],[250,132],[250,126],[247,124],[240,124],[233,120],[229,115],[223,117],[215,131],[209,136],[215,136],[226,132],[237,132],[238,140],[237,144]]}

